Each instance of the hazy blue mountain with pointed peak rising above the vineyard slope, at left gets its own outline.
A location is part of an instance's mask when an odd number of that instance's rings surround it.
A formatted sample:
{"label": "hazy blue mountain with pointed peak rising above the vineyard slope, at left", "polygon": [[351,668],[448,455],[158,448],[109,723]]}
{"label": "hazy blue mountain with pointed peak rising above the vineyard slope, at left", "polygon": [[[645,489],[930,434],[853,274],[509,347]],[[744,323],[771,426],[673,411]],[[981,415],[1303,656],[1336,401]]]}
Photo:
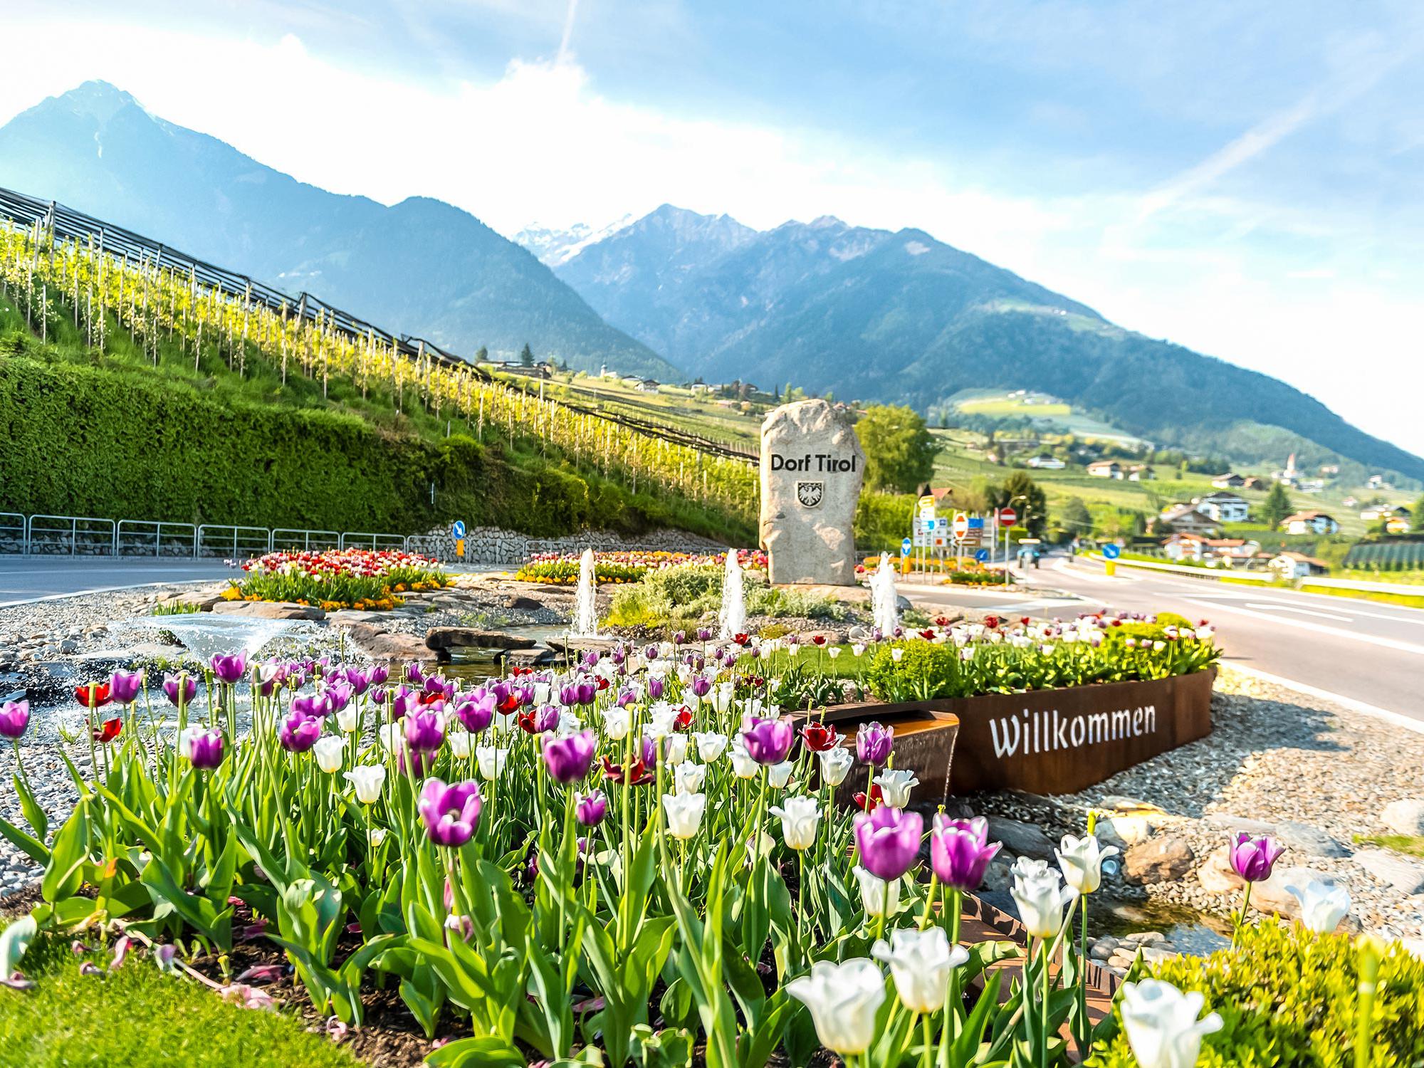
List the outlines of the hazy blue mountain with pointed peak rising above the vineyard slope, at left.
{"label": "hazy blue mountain with pointed peak rising above the vineyard slope, at left", "polygon": [[517,353],[675,377],[530,252],[441,201],[392,206],[296,181],[145,111],[107,83],[0,127],[0,185],[53,198],[386,329],[471,356]]}

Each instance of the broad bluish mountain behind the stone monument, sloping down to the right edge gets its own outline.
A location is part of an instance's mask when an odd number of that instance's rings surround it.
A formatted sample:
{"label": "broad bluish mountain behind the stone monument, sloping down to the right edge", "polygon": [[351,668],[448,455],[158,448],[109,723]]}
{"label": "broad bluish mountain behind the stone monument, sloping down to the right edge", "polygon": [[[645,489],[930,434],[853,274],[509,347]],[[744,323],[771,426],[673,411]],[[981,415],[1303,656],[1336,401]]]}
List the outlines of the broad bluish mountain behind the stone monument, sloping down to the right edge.
{"label": "broad bluish mountain behind the stone monument, sloping down to the right edge", "polygon": [[[1035,389],[1162,443],[1222,450],[1236,437],[1253,461],[1262,441],[1314,444],[1424,478],[1424,460],[1279,379],[1125,330],[924,231],[834,218],[732,226],[664,205],[557,273],[609,323],[711,382],[789,382],[920,410],[961,389]],[[735,242],[718,239],[729,231]],[[1245,424],[1279,433],[1233,430]]]}

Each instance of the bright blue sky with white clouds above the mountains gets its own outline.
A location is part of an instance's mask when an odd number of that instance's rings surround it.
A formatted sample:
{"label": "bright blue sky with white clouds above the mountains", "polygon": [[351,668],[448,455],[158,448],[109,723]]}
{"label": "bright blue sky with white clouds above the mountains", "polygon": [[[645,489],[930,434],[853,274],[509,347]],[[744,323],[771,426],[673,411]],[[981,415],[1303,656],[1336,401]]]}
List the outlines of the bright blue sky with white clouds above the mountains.
{"label": "bright blue sky with white clouds above the mountains", "polygon": [[11,41],[64,44],[7,50],[0,122],[104,78],[506,235],[664,202],[917,226],[1424,454],[1415,0],[6,7]]}

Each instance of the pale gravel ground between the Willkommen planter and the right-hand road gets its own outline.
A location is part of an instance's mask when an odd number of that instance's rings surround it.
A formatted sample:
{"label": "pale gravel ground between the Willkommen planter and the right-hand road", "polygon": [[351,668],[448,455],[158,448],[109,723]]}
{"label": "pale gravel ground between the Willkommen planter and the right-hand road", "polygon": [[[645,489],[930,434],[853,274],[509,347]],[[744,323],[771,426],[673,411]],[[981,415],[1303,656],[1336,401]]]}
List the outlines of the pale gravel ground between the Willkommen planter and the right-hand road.
{"label": "pale gravel ground between the Willkommen planter and the right-hand road", "polygon": [[[971,806],[1037,823],[1052,837],[1081,834],[1088,809],[1155,806],[1162,812],[1145,817],[1151,840],[1185,842],[1195,854],[1190,871],[1145,887],[1128,886],[1118,874],[1105,881],[1105,890],[1219,917],[1240,906],[1240,894],[1208,890],[1203,863],[1233,829],[1274,833],[1287,846],[1277,871],[1303,867],[1334,879],[1349,889],[1351,914],[1361,927],[1387,937],[1418,937],[1424,893],[1408,893],[1367,871],[1360,862],[1377,847],[1358,843],[1357,836],[1390,832],[1380,819],[1390,802],[1424,797],[1424,735],[1229,666],[1216,681],[1212,716],[1210,736],[1077,795],[984,795]],[[1387,856],[1424,869],[1415,857]]]}

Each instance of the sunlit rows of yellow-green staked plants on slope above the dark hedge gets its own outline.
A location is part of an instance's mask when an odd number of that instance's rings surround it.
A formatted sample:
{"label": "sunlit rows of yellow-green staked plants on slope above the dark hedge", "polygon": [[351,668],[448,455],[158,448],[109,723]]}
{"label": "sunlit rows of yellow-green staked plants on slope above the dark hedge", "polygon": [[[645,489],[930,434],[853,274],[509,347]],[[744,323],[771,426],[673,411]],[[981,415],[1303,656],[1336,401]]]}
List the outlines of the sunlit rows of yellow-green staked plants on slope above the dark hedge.
{"label": "sunlit rows of yellow-green staked plants on slope above the dark hedge", "polygon": [[[38,204],[0,198],[11,215]],[[695,444],[634,429],[587,410],[543,400],[498,382],[466,360],[410,337],[397,337],[303,293],[289,298],[222,272],[137,235],[75,212],[67,225],[48,214],[27,225],[0,226],[0,293],[24,313],[41,343],[61,328],[90,350],[105,352],[122,330],[152,367],[221,363],[238,377],[300,376],[335,383],[362,400],[384,397],[396,413],[420,412],[464,423],[478,441],[506,440],[555,450],[575,467],[597,470],[632,493],[678,494],[750,521],[755,470],[746,459],[712,454]],[[78,221],[78,222],[75,222]],[[81,232],[81,231],[88,232]]]}

